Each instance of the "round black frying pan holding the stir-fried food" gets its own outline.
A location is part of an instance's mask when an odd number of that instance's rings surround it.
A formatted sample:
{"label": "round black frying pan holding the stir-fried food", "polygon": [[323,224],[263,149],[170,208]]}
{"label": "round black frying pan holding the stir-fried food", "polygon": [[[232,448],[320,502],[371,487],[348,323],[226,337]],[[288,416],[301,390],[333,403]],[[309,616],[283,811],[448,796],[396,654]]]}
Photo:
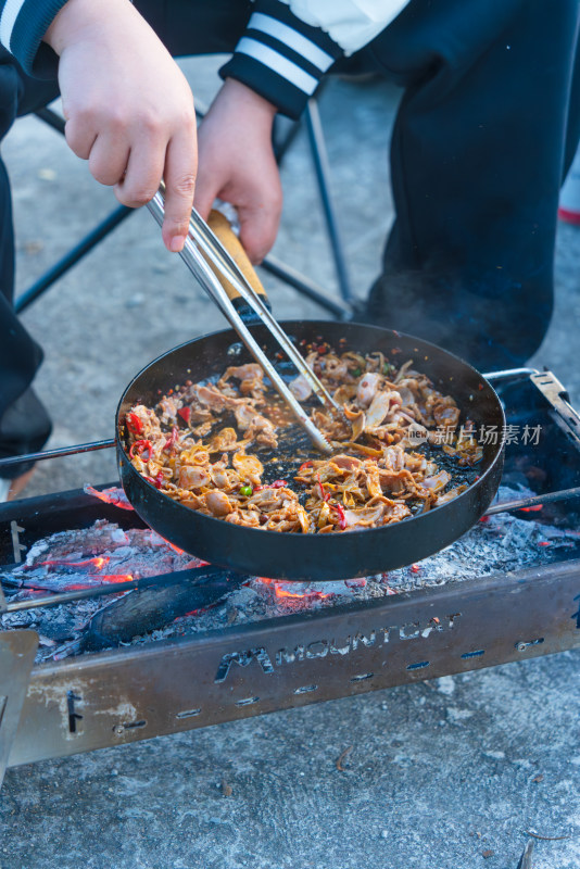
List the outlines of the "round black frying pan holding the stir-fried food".
{"label": "round black frying pan holding the stir-fried food", "polygon": [[[281,533],[231,525],[164,495],[130,463],[125,449],[125,414],[137,403],[153,407],[160,392],[166,393],[187,379],[197,382],[217,378],[227,365],[251,362],[236,332],[227,330],[189,341],[160,356],[137,375],[121,399],[116,426],[121,480],[141,518],[186,552],[212,564],[290,580],[346,579],[393,570],[432,555],[465,533],[491,504],[502,476],[505,418],[489,382],[451,353],[411,336],[374,326],[318,320],[282,326],[297,342],[324,340],[341,351],[363,354],[381,351],[398,367],[412,358],[414,367],[428,375],[437,389],[453,395],[463,423],[471,419],[478,431],[481,426],[496,426],[499,442],[483,445],[483,457],[470,473],[468,489],[446,504],[393,525],[326,534]],[[275,360],[279,348],[267,329],[259,326],[252,331],[268,357]],[[339,344],[340,339],[346,343]],[[434,455],[439,459],[441,452]],[[276,475],[282,476],[279,466]]]}

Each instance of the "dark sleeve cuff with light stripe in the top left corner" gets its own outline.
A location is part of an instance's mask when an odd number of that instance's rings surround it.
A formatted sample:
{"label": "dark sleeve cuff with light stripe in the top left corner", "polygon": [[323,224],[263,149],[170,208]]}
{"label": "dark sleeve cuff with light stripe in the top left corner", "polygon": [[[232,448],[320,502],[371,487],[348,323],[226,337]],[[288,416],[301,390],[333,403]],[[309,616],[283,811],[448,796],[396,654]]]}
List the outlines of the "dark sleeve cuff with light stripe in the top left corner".
{"label": "dark sleeve cuff with light stripe in the top left corner", "polygon": [[42,37],[66,0],[0,0],[0,43],[28,75],[56,72],[56,58]]}

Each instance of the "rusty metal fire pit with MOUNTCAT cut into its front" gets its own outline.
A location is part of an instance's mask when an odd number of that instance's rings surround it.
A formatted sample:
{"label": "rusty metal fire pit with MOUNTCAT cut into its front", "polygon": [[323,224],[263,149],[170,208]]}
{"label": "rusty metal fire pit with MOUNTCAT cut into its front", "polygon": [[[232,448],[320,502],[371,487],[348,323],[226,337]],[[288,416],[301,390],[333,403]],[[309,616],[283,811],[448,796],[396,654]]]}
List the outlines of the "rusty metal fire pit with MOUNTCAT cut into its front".
{"label": "rusty metal fire pit with MOUNTCAT cut into its front", "polygon": [[[506,373],[509,425],[541,420],[547,446],[508,445],[506,467],[540,494],[580,484],[580,418],[551,374]],[[541,470],[541,473],[540,473]],[[551,501],[551,499],[546,499]],[[571,515],[576,501],[552,509]],[[0,558],[66,521],[114,507],[81,493],[0,508]],[[135,514],[115,520],[138,524]],[[63,521],[65,522],[63,525]],[[560,561],[368,603],[235,626],[34,667],[37,634],[0,632],[0,772],[580,644],[580,559]],[[0,608],[2,601],[0,600]]]}

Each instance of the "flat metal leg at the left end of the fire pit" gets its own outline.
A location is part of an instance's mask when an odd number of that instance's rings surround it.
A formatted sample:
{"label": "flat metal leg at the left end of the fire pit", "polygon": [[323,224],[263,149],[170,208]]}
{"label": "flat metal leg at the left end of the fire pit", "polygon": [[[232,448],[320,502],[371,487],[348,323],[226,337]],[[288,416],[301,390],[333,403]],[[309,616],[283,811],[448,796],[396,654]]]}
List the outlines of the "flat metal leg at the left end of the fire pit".
{"label": "flat metal leg at the left end of the fire pit", "polygon": [[0,633],[0,788],[38,648],[36,631]]}

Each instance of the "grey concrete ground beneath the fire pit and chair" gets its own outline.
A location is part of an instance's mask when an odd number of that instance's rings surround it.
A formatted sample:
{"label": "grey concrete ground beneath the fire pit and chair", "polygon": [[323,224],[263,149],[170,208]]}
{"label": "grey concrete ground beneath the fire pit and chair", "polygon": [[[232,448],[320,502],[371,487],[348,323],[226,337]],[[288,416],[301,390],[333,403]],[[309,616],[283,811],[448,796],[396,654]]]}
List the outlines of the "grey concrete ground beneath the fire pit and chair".
{"label": "grey concrete ground beneath the fire pit and chair", "polygon": [[[186,64],[204,101],[217,65]],[[392,218],[386,140],[396,98],[384,83],[336,81],[321,104],[361,294],[378,272]],[[114,200],[36,119],[18,122],[3,155],[14,182],[23,290]],[[304,137],[283,182],[275,252],[332,287]],[[579,264],[580,234],[562,226],[558,308],[535,361],[553,367],[577,404]],[[280,318],[318,314],[265,282]],[[146,211],[25,322],[46,350],[37,387],[55,421],[52,445],[112,437],[116,401],[133,374],[222,326],[180,261],[163,250]],[[111,453],[53,461],[27,494],[114,478]],[[0,867],[516,869],[532,831],[549,837],[535,840],[534,869],[576,869],[578,663],[570,652],[9,770]],[[339,771],[336,759],[351,745]]]}

